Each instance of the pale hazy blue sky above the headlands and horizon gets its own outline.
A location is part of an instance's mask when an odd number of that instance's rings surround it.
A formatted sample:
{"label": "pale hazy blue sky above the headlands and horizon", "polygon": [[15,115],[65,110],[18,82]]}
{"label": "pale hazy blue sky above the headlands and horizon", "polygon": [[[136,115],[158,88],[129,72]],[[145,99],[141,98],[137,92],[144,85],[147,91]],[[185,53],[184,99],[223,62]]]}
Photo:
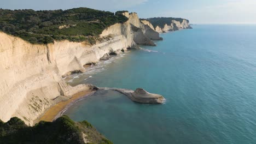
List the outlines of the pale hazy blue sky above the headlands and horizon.
{"label": "pale hazy blue sky above the headlands and horizon", "polygon": [[190,23],[256,23],[256,0],[0,0],[3,9],[129,10],[139,17],[183,17]]}

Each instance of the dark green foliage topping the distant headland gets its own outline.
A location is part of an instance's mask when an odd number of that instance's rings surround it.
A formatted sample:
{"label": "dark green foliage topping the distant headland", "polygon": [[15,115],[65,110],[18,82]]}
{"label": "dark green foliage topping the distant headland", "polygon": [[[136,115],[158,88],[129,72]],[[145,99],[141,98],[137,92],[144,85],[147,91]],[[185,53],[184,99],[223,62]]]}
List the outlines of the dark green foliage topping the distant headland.
{"label": "dark green foliage topping the distant headland", "polygon": [[[154,28],[156,26],[164,28],[165,24],[171,25],[172,20],[176,20],[176,21],[182,22],[183,20],[186,20],[186,19],[174,18],[174,17],[154,17],[154,18],[142,19],[142,20],[149,21],[150,23],[152,23]],[[189,21],[189,20],[187,20],[187,21]]]}

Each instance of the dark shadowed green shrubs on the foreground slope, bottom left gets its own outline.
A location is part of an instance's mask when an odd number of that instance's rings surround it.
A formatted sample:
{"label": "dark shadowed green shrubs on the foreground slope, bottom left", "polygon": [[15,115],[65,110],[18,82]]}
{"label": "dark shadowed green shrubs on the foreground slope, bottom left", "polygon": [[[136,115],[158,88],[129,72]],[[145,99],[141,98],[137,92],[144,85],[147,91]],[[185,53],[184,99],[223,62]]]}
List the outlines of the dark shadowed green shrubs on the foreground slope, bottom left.
{"label": "dark shadowed green shrubs on the foreground slope, bottom left", "polygon": [[88,143],[111,144],[89,122],[74,122],[62,116],[54,122],[41,121],[28,127],[13,117],[4,123],[0,120],[0,143]]}

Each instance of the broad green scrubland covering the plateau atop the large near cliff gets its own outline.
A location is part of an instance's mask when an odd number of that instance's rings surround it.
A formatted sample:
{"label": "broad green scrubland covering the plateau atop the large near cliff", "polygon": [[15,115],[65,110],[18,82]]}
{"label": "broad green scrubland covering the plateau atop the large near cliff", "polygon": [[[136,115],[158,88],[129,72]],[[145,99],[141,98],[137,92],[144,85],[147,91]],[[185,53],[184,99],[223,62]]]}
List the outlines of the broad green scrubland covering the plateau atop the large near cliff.
{"label": "broad green scrubland covering the plateau atop the large near cliff", "polygon": [[32,44],[54,40],[89,41],[94,44],[102,31],[127,17],[117,12],[89,8],[69,10],[0,9],[0,31],[15,35]]}

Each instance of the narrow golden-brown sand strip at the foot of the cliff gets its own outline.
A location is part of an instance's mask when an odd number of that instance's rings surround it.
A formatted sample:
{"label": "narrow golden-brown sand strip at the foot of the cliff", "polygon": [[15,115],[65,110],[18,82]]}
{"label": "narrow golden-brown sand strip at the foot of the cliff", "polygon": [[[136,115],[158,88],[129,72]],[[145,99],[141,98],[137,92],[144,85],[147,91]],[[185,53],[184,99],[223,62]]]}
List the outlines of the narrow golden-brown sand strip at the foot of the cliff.
{"label": "narrow golden-brown sand strip at the foot of the cliff", "polygon": [[[39,121],[46,121],[46,122],[53,122],[55,117],[60,114],[61,111],[65,110],[65,108],[71,104],[72,102],[78,100],[79,98],[86,97],[95,91],[82,91],[79,93],[74,94],[70,99],[67,101],[61,101],[60,103],[50,107],[48,111],[44,113],[44,115],[39,119]],[[39,122],[38,121],[38,122]]]}

